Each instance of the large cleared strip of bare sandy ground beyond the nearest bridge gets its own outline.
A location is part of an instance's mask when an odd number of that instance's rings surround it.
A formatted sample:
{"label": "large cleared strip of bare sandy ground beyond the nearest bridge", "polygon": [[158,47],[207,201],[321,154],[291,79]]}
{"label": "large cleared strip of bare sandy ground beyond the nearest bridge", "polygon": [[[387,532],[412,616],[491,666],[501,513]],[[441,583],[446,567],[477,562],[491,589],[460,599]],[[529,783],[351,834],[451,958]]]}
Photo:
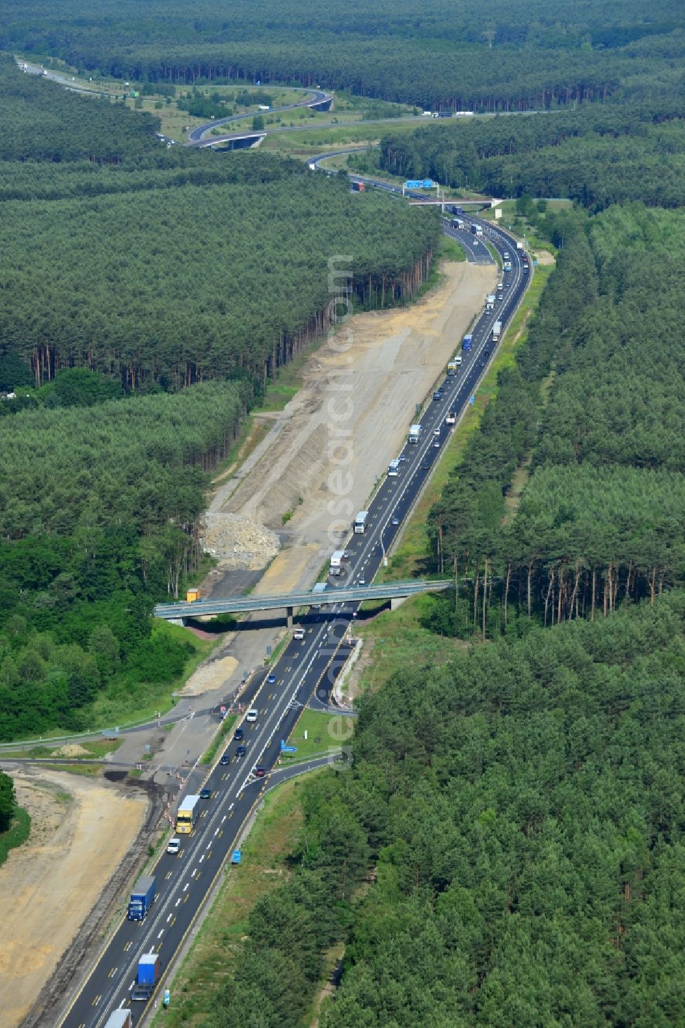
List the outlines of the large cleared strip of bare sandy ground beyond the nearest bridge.
{"label": "large cleared strip of bare sandy ground beyond the nearest bridge", "polygon": [[497,281],[494,264],[446,261],[442,272],[441,285],[421,300],[355,315],[324,343],[298,395],[283,411],[265,415],[273,427],[253,470],[217,492],[214,512],[262,522],[286,543],[257,593],[310,587],[312,573],[315,579],[399,453],[415,404]]}

